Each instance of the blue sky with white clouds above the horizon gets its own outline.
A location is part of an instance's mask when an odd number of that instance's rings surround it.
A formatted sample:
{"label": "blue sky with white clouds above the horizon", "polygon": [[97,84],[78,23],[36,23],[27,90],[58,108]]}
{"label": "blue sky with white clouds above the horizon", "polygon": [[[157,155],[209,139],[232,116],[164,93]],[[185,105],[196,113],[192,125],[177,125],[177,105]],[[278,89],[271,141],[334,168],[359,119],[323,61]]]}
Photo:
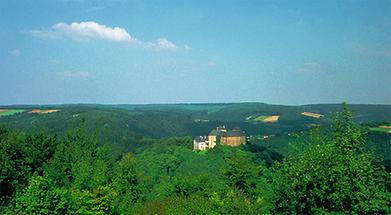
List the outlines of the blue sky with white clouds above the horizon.
{"label": "blue sky with white clouds above the horizon", "polygon": [[1,0],[0,105],[391,104],[391,1]]}

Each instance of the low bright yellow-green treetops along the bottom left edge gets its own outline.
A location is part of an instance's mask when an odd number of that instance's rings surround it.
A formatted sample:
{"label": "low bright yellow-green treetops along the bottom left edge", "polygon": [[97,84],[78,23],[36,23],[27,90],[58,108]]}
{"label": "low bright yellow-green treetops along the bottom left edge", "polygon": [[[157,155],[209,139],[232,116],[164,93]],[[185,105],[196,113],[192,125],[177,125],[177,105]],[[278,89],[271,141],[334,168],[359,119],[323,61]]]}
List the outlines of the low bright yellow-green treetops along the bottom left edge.
{"label": "low bright yellow-green treetops along the bottom left edge", "polygon": [[67,189],[56,187],[50,178],[33,176],[6,211],[9,214],[108,214],[115,197],[110,186]]}

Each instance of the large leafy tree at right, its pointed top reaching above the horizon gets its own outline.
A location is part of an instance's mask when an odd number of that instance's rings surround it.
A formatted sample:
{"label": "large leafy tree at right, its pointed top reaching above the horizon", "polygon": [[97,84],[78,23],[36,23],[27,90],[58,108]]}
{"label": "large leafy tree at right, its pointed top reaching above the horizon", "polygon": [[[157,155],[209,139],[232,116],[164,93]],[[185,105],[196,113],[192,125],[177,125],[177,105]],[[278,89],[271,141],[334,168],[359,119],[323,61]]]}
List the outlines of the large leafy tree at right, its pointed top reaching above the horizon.
{"label": "large leafy tree at right, its pointed top reaching above the horizon", "polygon": [[390,175],[360,150],[364,139],[356,126],[344,105],[334,118],[330,141],[312,138],[301,153],[277,165],[272,187],[275,213],[390,212]]}

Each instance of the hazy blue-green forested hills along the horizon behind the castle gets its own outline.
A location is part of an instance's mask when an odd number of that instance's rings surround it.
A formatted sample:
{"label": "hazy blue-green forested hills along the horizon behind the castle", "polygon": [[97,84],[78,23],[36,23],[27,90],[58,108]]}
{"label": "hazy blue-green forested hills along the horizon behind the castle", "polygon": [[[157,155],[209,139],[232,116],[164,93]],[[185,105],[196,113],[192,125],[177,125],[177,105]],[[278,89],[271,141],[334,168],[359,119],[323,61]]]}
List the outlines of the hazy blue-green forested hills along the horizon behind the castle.
{"label": "hazy blue-green forested hills along the horizon behind the castle", "polygon": [[[354,120],[378,127],[391,122],[390,105],[350,105]],[[31,113],[32,110],[59,110],[52,113]],[[270,105],[265,103],[223,104],[159,104],[159,105],[54,105],[7,106],[0,110],[18,110],[1,115],[0,125],[25,132],[61,133],[85,121],[86,131],[95,134],[99,145],[110,143],[118,150],[135,147],[142,138],[167,138],[207,135],[219,125],[240,127],[247,136],[275,135],[269,144],[279,153],[286,153],[288,134],[325,127],[340,105],[304,106]],[[21,112],[19,112],[21,111]],[[310,112],[319,118],[302,115]],[[4,113],[3,113],[4,114]],[[276,121],[268,121],[278,116]],[[271,118],[270,118],[271,119]],[[375,134],[375,136],[381,134]],[[283,147],[280,147],[283,145]]]}

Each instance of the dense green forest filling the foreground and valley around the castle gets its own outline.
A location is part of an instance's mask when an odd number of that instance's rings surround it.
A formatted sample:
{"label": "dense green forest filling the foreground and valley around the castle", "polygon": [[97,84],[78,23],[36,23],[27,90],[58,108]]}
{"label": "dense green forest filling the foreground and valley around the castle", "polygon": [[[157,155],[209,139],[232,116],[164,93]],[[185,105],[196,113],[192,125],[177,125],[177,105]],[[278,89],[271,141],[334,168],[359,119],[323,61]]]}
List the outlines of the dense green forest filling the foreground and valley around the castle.
{"label": "dense green forest filling the foreground and valley around the castle", "polygon": [[[291,129],[297,122],[288,128],[294,120],[289,117],[267,128],[243,123],[254,136],[261,130],[276,138],[254,137],[241,147],[218,145],[207,151],[192,150],[186,129],[191,125],[196,132],[190,135],[198,135],[218,125],[221,106],[182,109],[183,114],[149,110],[148,116],[137,114],[145,109],[126,108],[132,112],[121,119],[131,131],[104,117],[94,122],[88,116],[73,117],[71,123],[59,124],[47,116],[45,129],[37,121],[31,126],[33,117],[7,118],[13,123],[5,120],[8,124],[0,128],[1,213],[391,213],[390,134],[370,132],[347,105],[312,129]],[[237,113],[235,108],[224,109],[232,122],[254,114],[229,114]],[[272,109],[264,111],[273,114]],[[162,114],[170,117],[159,120]],[[210,121],[193,123],[205,116]],[[146,126],[136,127],[137,122]],[[296,127],[309,122],[302,119]],[[94,130],[91,124],[107,126]]]}

